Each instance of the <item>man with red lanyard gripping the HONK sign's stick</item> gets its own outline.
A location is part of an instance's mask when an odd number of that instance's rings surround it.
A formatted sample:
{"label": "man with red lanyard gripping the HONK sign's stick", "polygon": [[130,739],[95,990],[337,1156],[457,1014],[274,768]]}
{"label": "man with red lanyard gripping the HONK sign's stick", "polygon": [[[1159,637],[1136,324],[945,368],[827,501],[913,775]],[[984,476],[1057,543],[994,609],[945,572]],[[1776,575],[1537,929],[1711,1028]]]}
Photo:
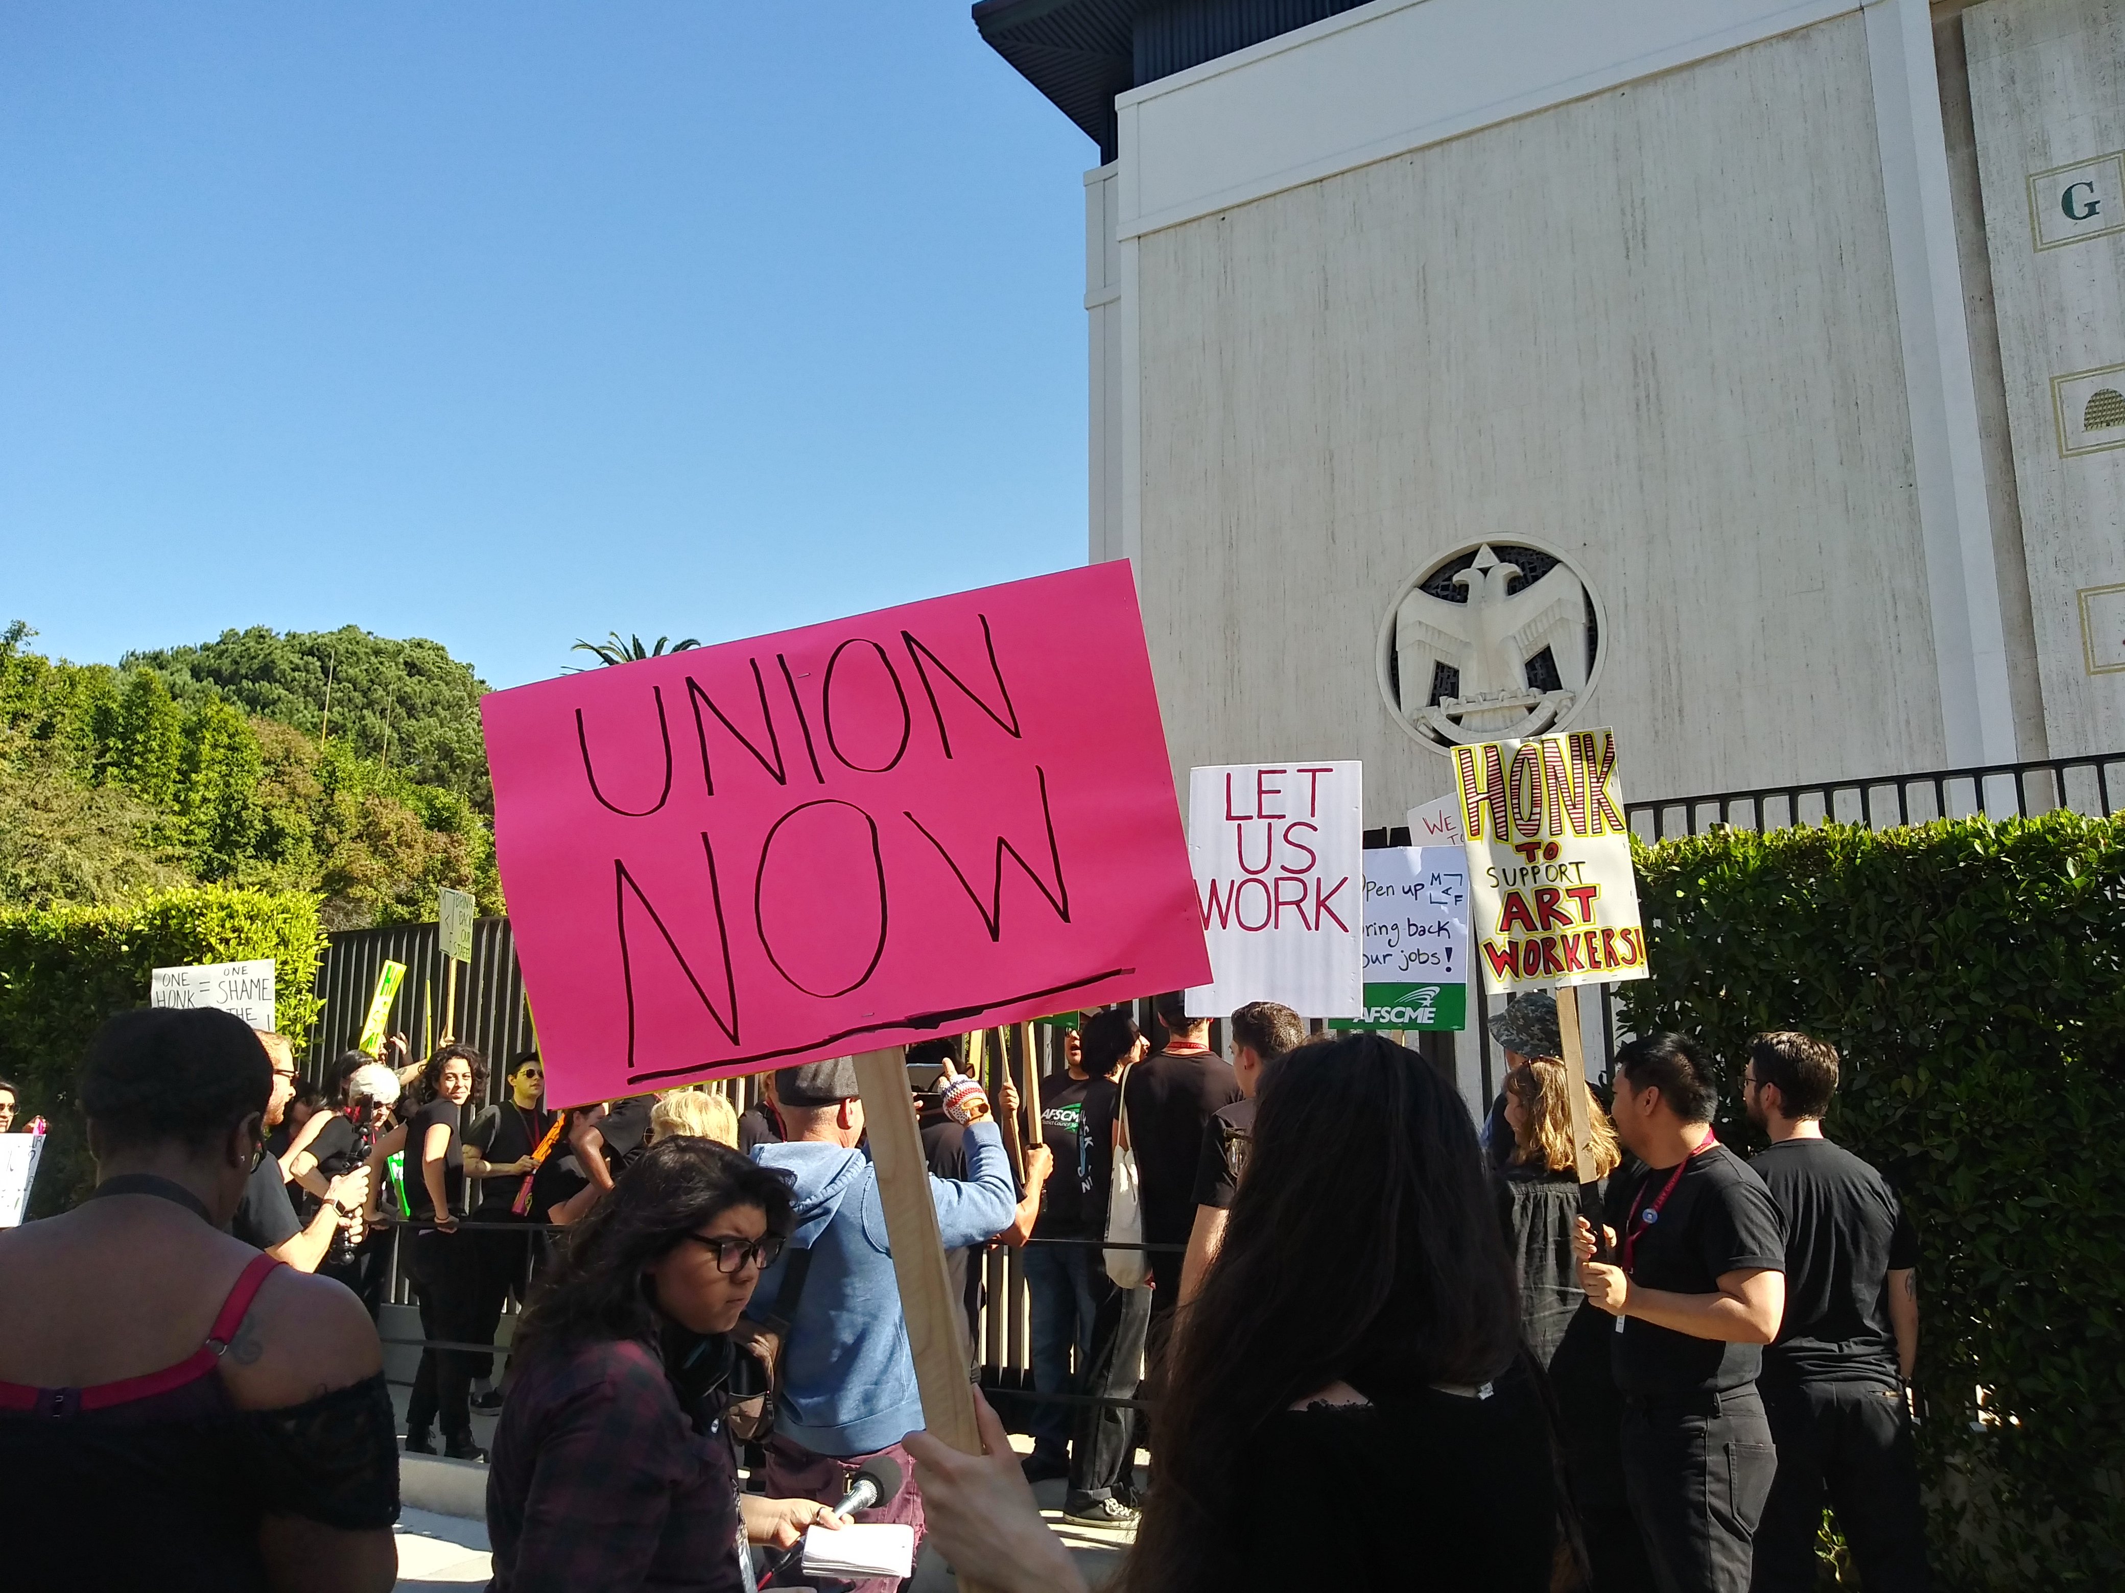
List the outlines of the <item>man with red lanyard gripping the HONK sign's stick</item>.
{"label": "man with red lanyard gripping the HONK sign's stick", "polygon": [[1683,1034],[1615,1058],[1615,1134],[1645,1162],[1594,1260],[1579,1219],[1587,1304],[1615,1317],[1624,1480],[1662,1593],[1745,1593],[1776,1470],[1755,1376],[1785,1313],[1785,1232],[1764,1181],[1713,1134],[1719,1092]]}

